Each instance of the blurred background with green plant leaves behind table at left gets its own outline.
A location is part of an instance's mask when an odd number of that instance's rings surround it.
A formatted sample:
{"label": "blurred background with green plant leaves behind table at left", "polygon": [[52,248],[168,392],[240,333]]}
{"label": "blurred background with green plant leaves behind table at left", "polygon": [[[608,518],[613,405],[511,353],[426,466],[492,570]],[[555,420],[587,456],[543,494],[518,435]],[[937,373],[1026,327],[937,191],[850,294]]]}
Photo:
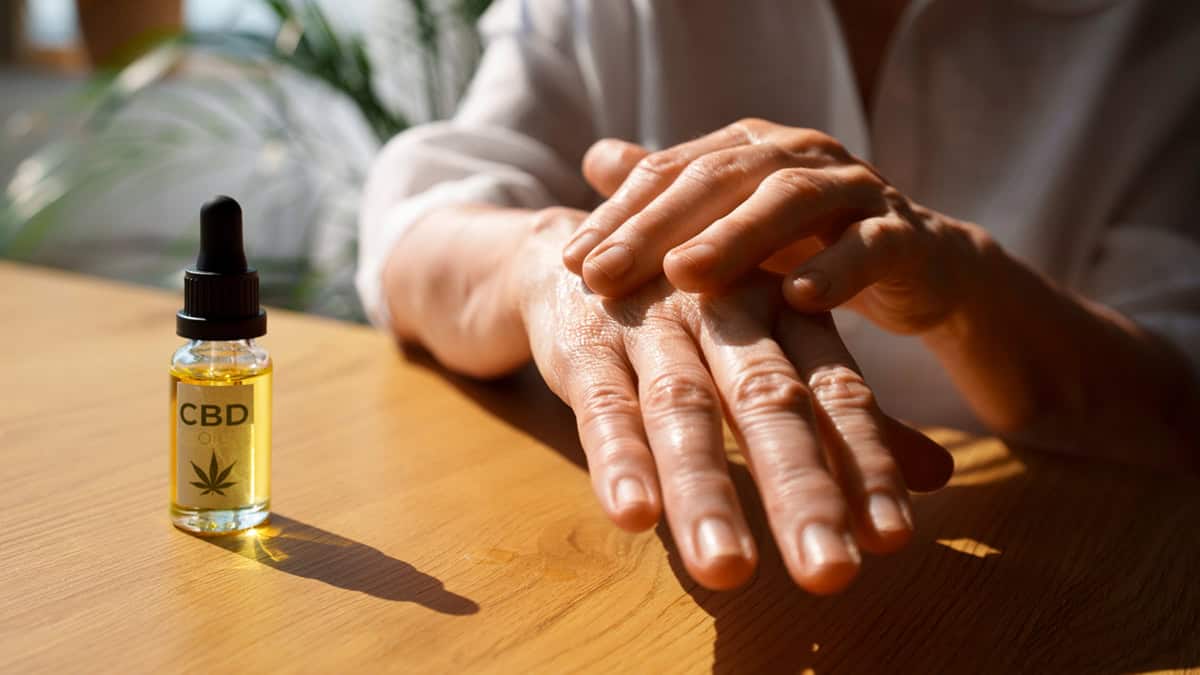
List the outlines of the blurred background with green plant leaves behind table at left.
{"label": "blurred background with green plant leaves behind table at left", "polygon": [[178,287],[227,193],[264,301],[361,321],[367,167],[452,113],[490,2],[0,0],[0,258]]}

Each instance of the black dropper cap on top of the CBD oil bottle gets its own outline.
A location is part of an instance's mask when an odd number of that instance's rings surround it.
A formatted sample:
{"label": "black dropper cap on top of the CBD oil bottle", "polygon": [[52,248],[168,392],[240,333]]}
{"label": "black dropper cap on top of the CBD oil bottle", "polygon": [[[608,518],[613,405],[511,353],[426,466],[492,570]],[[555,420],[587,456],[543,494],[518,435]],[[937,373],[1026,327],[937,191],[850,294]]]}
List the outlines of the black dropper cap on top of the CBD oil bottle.
{"label": "black dropper cap on top of the CBD oil bottle", "polygon": [[200,209],[200,253],[184,274],[184,309],[175,333],[192,340],[246,340],[266,334],[258,305],[258,271],[246,265],[241,207],[214,197]]}

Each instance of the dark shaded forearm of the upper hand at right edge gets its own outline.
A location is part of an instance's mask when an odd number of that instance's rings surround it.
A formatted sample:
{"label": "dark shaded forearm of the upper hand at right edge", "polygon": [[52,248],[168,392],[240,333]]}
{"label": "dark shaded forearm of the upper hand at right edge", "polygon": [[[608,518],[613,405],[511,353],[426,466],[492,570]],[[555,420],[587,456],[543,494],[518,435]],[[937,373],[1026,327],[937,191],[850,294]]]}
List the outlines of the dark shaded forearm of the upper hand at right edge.
{"label": "dark shaded forearm of the upper hand at right edge", "polygon": [[980,247],[971,292],[925,344],[980,418],[1016,441],[1139,464],[1200,464],[1192,371],[1174,347]]}

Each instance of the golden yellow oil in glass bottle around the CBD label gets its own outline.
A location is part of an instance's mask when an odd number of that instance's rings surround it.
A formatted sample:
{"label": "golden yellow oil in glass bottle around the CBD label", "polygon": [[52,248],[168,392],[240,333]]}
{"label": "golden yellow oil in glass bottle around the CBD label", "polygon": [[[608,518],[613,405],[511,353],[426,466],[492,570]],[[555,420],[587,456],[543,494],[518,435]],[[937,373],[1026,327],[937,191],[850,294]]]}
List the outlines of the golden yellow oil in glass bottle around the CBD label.
{"label": "golden yellow oil in glass bottle around the CBD label", "polygon": [[[196,534],[228,534],[260,525],[270,515],[271,498],[271,365],[247,370],[220,369],[210,365],[170,368],[170,484],[172,522]],[[178,438],[175,411],[178,383],[203,387],[253,387],[254,423],[251,431],[250,497],[230,508],[200,508],[179,503],[175,462]]]}

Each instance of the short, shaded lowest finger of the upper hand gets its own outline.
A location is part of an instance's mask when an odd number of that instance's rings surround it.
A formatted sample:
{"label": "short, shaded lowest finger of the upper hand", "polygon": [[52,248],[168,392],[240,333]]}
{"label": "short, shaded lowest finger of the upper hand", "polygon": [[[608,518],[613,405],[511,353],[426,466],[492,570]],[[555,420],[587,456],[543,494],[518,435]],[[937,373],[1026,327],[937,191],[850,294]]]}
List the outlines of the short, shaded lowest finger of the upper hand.
{"label": "short, shaded lowest finger of the upper hand", "polygon": [[784,280],[784,298],[799,311],[828,311],[893,273],[912,253],[912,228],[896,216],[847,227]]}

